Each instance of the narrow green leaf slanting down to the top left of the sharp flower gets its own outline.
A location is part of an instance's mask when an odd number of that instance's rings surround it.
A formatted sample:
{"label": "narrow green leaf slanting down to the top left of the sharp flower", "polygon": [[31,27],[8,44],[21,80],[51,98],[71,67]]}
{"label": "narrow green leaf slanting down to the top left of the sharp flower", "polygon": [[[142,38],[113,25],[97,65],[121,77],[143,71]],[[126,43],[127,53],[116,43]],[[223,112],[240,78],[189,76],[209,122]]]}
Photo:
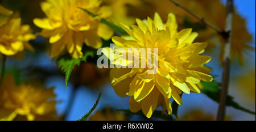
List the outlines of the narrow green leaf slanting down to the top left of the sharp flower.
{"label": "narrow green leaf slanting down to the top left of the sharp flower", "polygon": [[[92,16],[93,18],[97,17],[98,15],[96,14],[93,14],[92,12],[84,9],[84,8],[81,8],[79,7],[81,10],[84,10],[85,12],[87,12],[90,16]],[[114,23],[112,22],[109,22],[108,20],[104,19],[104,18],[101,18],[101,23],[104,23],[106,25],[108,25],[110,28],[112,28],[115,32],[118,32],[120,33],[121,35],[126,35],[126,31],[123,30],[121,27],[119,27],[118,25],[115,25]]]}

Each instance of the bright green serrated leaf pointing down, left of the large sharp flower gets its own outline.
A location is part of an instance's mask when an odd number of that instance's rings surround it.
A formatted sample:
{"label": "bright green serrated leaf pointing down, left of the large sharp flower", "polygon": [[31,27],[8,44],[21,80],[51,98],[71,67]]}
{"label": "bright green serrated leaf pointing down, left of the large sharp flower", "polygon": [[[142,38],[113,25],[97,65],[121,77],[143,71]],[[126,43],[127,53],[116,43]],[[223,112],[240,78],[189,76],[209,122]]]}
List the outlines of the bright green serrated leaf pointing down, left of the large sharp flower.
{"label": "bright green serrated leaf pointing down, left of the large sharp flower", "polygon": [[72,58],[69,55],[64,55],[57,59],[57,63],[59,63],[59,67],[61,67],[61,70],[65,73],[65,84],[68,88],[68,80],[71,75],[71,72],[73,71],[74,67],[76,65],[80,65],[81,62],[86,62],[87,57],[93,57],[93,51],[86,51],[82,58]]}

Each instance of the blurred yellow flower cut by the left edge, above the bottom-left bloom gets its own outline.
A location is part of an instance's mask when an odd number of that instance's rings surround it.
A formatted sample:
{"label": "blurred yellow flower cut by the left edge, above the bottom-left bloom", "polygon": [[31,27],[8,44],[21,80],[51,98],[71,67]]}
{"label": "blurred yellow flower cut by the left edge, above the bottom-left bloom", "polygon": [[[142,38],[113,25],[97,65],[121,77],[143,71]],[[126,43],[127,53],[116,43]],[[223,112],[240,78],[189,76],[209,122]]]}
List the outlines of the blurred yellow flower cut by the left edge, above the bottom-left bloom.
{"label": "blurred yellow flower cut by the left edge, above the bottom-left bloom", "polygon": [[28,41],[35,39],[29,25],[21,25],[20,18],[11,18],[0,27],[0,52],[13,56],[24,50],[34,50]]}

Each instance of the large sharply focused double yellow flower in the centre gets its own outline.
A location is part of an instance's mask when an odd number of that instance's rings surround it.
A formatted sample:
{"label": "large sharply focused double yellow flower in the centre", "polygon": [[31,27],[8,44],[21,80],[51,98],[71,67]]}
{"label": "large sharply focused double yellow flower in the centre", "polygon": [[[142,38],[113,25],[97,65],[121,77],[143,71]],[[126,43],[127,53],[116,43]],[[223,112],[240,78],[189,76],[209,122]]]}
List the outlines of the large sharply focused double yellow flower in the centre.
{"label": "large sharply focused double yellow flower in the centre", "polygon": [[[123,37],[113,37],[112,40],[118,48],[126,49],[123,50],[124,52],[129,51],[127,48],[158,48],[158,73],[148,74],[147,72],[151,69],[135,68],[135,65],[133,69],[115,67],[110,71],[112,86],[117,95],[131,96],[131,112],[142,109],[142,112],[150,118],[156,107],[162,105],[163,112],[167,109],[168,114],[171,114],[171,96],[177,104],[182,104],[181,92],[199,93],[200,89],[196,84],[200,83],[200,80],[206,82],[212,80],[212,76],[209,75],[210,70],[203,66],[211,58],[200,56],[207,43],[192,43],[197,37],[197,33],[192,32],[192,29],[177,32],[176,18],[171,13],[168,14],[166,24],[163,24],[158,13],[155,13],[154,20],[147,18],[147,20],[137,19],[136,21],[138,26],[131,25],[131,29],[121,24],[131,36],[129,40]],[[153,55],[154,53],[151,53],[151,57]],[[122,62],[118,64],[119,58],[123,57],[119,56],[115,59],[115,65],[122,64]],[[110,61],[113,62],[112,58]]]}

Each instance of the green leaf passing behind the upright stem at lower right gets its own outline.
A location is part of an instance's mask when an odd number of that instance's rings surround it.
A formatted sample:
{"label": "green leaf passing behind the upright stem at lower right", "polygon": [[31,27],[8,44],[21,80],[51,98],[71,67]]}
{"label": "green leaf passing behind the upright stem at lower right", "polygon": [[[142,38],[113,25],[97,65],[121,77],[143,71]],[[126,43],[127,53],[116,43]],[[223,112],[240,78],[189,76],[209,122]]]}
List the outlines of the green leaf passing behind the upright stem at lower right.
{"label": "green leaf passing behind the upright stem at lower right", "polygon": [[[214,80],[212,82],[201,81],[201,84],[203,85],[202,92],[205,95],[207,95],[210,99],[212,99],[213,101],[216,101],[218,103],[219,99],[220,99],[220,91],[221,91],[219,89],[219,87],[221,86],[221,84],[217,83]],[[240,104],[236,103],[233,99],[234,98],[232,96],[228,95],[227,99],[226,99],[226,106],[233,107],[235,109],[240,109],[243,112],[247,112],[250,114],[255,114],[255,112],[253,112],[249,109],[243,108]]]}

